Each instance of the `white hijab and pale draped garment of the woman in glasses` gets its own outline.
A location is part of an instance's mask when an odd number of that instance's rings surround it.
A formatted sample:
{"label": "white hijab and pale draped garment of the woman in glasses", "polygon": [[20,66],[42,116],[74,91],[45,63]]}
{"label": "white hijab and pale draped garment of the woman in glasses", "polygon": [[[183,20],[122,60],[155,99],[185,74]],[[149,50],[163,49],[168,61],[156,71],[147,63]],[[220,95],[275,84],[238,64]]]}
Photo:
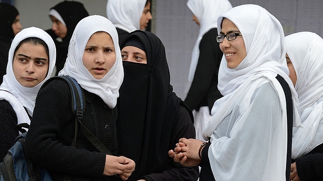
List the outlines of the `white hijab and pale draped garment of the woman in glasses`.
{"label": "white hijab and pale draped garment of the woman in glasses", "polygon": [[[275,78],[277,74],[286,80],[291,89],[294,126],[300,126],[301,123],[297,94],[292,81],[288,77],[283,28],[274,16],[257,5],[234,7],[219,16],[218,27],[221,27],[224,17],[232,21],[241,32],[247,56],[234,69],[227,67],[225,57],[223,57],[220,65],[218,88],[224,97],[214,103],[211,111],[213,116],[203,130],[204,139],[211,138],[208,155],[214,177],[216,180],[228,180],[227,178],[285,180],[287,112],[283,88]],[[221,32],[221,28],[218,28],[218,32]],[[261,102],[257,103],[258,105],[253,105],[251,102],[256,89],[267,82],[270,83],[279,99],[274,104],[279,104],[281,108],[279,129],[274,129],[271,124],[266,124],[267,118],[262,119],[261,115],[255,116],[258,113],[254,109],[250,109],[250,107],[261,107],[262,104],[267,104]],[[265,100],[270,99],[266,98]],[[278,114],[272,112],[276,109],[275,106],[272,107],[272,110],[266,110],[269,118]],[[232,114],[237,115],[237,117],[230,117],[229,115]],[[216,129],[228,117],[234,120],[232,131],[229,132],[230,138],[228,136],[217,138],[215,136]],[[259,118],[259,120],[255,120],[256,118]],[[252,136],[250,133],[258,132],[258,130],[249,126],[245,127],[245,125],[255,121],[262,123],[256,129],[271,130],[271,134]],[[279,134],[280,139],[272,140],[271,138],[277,136],[277,134]],[[250,145],[249,139],[253,139],[255,142],[261,142],[263,139],[271,140],[272,142],[264,144],[265,148],[271,151],[259,152],[258,145]],[[227,150],[226,148],[232,144],[234,144],[235,149]],[[236,154],[236,159],[231,159],[231,154]],[[261,164],[256,164],[259,160],[261,160]],[[253,170],[253,172],[250,172],[250,170]]]}

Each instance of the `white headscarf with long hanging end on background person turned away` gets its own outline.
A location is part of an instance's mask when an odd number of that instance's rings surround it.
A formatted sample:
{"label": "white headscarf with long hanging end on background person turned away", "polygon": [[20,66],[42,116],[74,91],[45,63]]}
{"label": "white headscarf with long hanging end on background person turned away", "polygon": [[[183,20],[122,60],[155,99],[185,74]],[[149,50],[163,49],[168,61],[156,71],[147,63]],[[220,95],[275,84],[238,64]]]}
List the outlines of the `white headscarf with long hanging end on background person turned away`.
{"label": "white headscarf with long hanging end on background person turned away", "polygon": [[196,16],[200,23],[200,30],[192,52],[191,65],[188,73],[190,82],[194,79],[198,58],[199,45],[205,33],[218,27],[218,17],[232,8],[228,0],[188,0],[187,7]]}

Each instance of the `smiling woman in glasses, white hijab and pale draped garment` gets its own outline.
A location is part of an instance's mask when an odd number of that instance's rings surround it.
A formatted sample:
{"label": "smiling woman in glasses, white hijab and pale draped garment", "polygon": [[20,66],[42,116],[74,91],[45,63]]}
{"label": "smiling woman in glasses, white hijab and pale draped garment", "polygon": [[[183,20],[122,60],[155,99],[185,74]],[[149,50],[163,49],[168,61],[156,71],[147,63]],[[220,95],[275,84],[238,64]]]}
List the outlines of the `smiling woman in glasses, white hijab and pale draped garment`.
{"label": "smiling woman in glasses, white hijab and pale draped garment", "polygon": [[[169,155],[184,165],[200,164],[200,180],[287,180],[289,109],[294,126],[300,117],[283,28],[257,5],[229,10],[218,18],[218,27],[224,52],[218,87],[224,97],[214,103],[203,130],[209,142],[182,138]],[[289,108],[282,85],[287,95],[290,89]]]}

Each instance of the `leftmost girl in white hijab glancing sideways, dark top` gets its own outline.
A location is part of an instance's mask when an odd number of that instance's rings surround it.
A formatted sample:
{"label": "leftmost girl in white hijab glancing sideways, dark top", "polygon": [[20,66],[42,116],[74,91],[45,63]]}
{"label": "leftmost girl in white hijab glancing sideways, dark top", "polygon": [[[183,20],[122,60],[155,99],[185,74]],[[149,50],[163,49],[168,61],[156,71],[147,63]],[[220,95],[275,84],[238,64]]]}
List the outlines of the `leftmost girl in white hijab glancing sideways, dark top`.
{"label": "leftmost girl in white hijab glancing sideways, dark top", "polygon": [[17,124],[30,124],[37,93],[55,61],[55,44],[43,30],[26,28],[15,36],[0,85],[0,162],[19,135]]}

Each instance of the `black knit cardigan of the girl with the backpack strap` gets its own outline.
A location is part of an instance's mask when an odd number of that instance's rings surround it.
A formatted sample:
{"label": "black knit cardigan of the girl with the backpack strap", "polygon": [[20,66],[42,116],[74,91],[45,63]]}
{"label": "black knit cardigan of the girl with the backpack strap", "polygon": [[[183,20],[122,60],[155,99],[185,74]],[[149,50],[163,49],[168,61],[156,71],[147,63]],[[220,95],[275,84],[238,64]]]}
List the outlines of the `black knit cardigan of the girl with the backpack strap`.
{"label": "black knit cardigan of the girl with the backpack strap", "polygon": [[[25,145],[27,159],[46,168],[53,180],[72,174],[74,180],[115,180],[102,176],[105,154],[78,131],[76,148],[72,147],[75,117],[72,113],[70,87],[65,80],[54,79],[40,89]],[[117,155],[117,109],[85,89],[86,108],[81,120],[101,143]]]}

